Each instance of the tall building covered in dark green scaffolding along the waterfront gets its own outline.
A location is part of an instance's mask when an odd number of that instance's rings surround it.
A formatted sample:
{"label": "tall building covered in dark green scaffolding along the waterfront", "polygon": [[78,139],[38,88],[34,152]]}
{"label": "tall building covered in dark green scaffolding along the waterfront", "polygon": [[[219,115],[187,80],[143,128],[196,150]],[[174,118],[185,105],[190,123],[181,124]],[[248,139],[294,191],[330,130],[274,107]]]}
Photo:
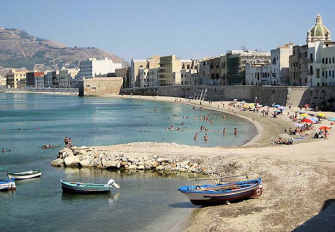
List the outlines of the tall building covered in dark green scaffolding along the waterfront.
{"label": "tall building covered in dark green scaffolding along the waterfront", "polygon": [[245,63],[270,62],[271,54],[257,50],[232,50],[227,51],[226,58],[226,85],[245,85]]}

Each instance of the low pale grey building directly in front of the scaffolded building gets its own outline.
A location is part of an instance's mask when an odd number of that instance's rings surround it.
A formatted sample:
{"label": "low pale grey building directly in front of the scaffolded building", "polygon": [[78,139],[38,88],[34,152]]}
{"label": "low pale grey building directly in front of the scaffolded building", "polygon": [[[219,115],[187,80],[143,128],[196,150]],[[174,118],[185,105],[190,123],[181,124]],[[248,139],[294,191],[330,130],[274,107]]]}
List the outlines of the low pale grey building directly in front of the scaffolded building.
{"label": "low pale grey building directly in front of the scaffolded building", "polygon": [[271,63],[245,63],[245,85],[271,85]]}

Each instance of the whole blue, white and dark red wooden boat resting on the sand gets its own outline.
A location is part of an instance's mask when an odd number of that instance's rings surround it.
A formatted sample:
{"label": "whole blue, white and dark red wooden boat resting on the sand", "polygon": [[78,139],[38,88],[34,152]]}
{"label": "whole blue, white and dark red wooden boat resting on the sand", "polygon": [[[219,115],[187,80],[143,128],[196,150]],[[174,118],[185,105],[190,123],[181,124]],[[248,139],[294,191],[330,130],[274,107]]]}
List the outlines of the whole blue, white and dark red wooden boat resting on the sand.
{"label": "whole blue, white and dark red wooden boat resting on the sand", "polygon": [[178,190],[195,205],[222,204],[259,197],[262,195],[262,178],[228,184],[182,186]]}

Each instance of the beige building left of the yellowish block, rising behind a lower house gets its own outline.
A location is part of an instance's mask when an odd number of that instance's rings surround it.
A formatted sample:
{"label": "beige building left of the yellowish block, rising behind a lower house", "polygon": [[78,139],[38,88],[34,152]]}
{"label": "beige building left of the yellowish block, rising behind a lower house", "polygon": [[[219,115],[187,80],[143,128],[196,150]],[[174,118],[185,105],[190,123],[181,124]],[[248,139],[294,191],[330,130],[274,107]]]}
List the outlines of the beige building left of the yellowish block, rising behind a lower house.
{"label": "beige building left of the yellowish block, rising behind a lower house", "polygon": [[[158,68],[160,62],[160,56],[155,55],[147,59],[132,59],[131,66],[129,67],[129,87],[141,87],[141,83],[144,83],[144,76],[140,79],[140,69],[151,69]],[[142,71],[142,75],[144,71]],[[142,84],[144,86],[144,84]]]}

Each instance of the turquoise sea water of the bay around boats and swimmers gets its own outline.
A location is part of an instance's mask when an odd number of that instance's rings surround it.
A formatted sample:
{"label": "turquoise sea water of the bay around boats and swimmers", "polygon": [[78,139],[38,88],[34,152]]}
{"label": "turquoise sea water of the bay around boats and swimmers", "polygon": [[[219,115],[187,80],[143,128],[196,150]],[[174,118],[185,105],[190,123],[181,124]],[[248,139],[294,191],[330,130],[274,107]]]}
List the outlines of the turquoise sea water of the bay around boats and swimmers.
{"label": "turquoise sea water of the bay around boats and swimmers", "polygon": [[[153,113],[154,109],[158,113]],[[205,114],[210,114],[213,124],[193,119]],[[182,118],[187,115],[190,118]],[[184,131],[166,130],[172,123]],[[206,143],[201,140],[201,123],[209,129]],[[223,127],[228,132],[225,137],[222,132],[211,131]],[[234,127],[239,131],[236,138]],[[150,230],[165,231],[194,208],[177,191],[178,186],[189,184],[184,181],[186,174],[54,168],[50,161],[56,158],[59,147],[43,150],[43,144],[63,145],[67,136],[73,145],[136,141],[240,145],[254,133],[246,120],[234,116],[223,120],[219,113],[194,111],[183,104],[12,93],[0,94],[0,128],[6,129],[0,131],[0,149],[11,149],[0,153],[0,166],[9,166],[9,172],[43,172],[41,178],[16,181],[16,191],[0,192],[1,225],[7,225],[1,231],[145,231],[149,224],[159,226]],[[198,141],[193,140],[196,132]],[[5,177],[5,172],[0,172],[0,178]],[[96,183],[113,178],[121,188],[107,195],[69,195],[62,193],[61,178]]]}

